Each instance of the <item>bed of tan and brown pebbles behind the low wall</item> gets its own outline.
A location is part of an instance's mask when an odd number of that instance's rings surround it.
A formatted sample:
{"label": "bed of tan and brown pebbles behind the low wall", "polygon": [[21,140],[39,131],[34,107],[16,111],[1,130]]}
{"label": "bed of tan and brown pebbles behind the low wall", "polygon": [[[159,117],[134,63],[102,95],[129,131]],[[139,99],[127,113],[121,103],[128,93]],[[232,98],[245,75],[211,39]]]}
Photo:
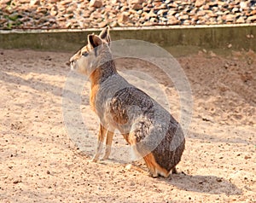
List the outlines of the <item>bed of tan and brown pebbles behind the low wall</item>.
{"label": "bed of tan and brown pebbles behind the low wall", "polygon": [[0,2],[2,30],[256,23],[256,3],[249,0],[20,0],[3,6],[9,2]]}

